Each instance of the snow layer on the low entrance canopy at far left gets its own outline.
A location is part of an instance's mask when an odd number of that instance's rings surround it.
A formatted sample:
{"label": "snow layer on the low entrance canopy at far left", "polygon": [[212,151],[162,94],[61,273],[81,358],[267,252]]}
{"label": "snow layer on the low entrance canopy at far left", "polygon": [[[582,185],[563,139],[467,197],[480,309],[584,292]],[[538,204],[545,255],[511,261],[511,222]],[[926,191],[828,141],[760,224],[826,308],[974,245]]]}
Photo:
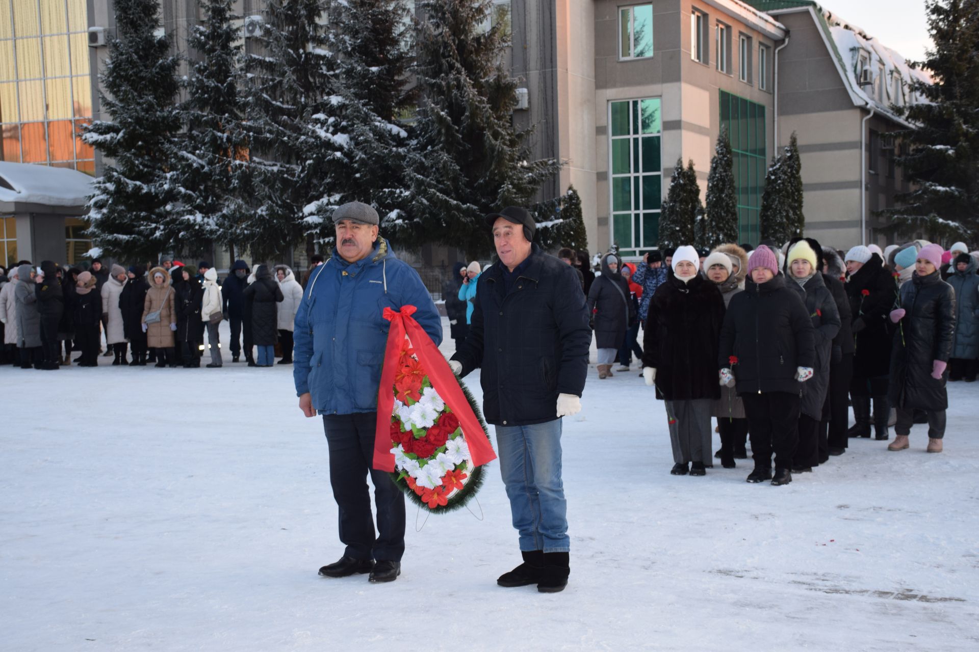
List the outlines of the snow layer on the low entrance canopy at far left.
{"label": "snow layer on the low entrance canopy at far left", "polygon": [[84,206],[95,180],[77,170],[0,161],[0,201]]}

